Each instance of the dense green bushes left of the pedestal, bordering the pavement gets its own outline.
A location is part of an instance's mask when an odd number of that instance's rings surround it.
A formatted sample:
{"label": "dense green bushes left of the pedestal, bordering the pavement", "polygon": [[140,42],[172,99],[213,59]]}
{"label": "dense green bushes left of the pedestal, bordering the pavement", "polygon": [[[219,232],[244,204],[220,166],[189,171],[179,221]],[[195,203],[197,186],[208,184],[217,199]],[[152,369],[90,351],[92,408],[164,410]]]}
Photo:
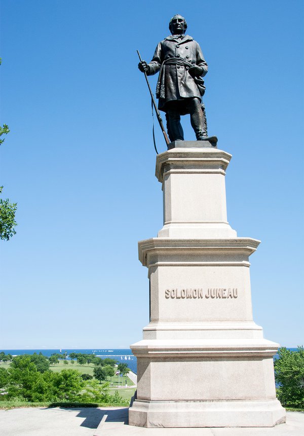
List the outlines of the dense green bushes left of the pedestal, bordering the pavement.
{"label": "dense green bushes left of the pedestal, bordering the pavement", "polygon": [[[0,367],[0,403],[128,404],[118,392],[110,395],[108,383],[101,385],[97,380],[92,380],[89,374],[82,375],[72,369],[64,369],[59,373],[45,370],[41,357],[46,359],[41,354],[16,356],[7,370]],[[57,359],[56,355],[53,357]],[[46,361],[49,365],[50,361]],[[106,377],[102,367],[94,370],[103,372],[99,375]]]}

